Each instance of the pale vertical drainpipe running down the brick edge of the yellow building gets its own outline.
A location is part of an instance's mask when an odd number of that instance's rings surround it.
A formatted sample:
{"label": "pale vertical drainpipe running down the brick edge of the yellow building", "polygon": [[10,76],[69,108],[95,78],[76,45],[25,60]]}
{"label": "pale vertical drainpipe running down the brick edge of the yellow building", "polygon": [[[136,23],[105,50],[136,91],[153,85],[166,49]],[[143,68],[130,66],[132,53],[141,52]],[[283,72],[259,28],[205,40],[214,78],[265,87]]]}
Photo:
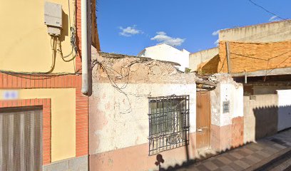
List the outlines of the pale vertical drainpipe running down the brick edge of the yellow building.
{"label": "pale vertical drainpipe running down the brick edge of the yellow building", "polygon": [[88,93],[87,0],[81,0],[82,93]]}

